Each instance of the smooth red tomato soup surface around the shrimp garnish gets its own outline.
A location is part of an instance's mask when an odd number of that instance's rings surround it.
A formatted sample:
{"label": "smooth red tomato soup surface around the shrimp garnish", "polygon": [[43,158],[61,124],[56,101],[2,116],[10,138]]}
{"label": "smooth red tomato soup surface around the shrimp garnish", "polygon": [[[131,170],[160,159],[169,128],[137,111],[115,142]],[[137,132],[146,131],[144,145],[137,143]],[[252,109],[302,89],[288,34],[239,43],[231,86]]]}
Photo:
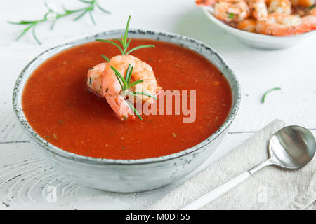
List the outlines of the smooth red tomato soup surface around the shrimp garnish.
{"label": "smooth red tomato soup surface around the shrimp garnish", "polygon": [[[41,64],[22,95],[22,108],[32,128],[46,141],[72,153],[93,158],[141,159],[178,153],[211,136],[228,117],[230,85],[202,55],[187,48],[144,39],[136,45],[155,48],[131,55],[152,66],[163,90],[196,90],[196,119],[183,115],[142,115],[143,120],[120,121],[103,98],[86,87],[88,69],[119,50],[93,42],[58,53]],[[190,107],[190,105],[189,105]]]}

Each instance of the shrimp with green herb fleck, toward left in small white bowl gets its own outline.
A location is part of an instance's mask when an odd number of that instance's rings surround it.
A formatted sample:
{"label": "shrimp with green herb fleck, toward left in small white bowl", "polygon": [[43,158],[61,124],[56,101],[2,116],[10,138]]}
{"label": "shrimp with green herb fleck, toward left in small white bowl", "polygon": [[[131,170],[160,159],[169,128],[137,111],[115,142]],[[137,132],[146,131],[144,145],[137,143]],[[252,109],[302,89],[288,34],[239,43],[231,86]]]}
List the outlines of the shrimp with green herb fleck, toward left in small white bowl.
{"label": "shrimp with green herb fleck, toward left in small white bowl", "polygon": [[249,14],[249,7],[243,0],[232,3],[227,1],[218,1],[214,5],[215,17],[227,22],[244,20],[249,17]]}

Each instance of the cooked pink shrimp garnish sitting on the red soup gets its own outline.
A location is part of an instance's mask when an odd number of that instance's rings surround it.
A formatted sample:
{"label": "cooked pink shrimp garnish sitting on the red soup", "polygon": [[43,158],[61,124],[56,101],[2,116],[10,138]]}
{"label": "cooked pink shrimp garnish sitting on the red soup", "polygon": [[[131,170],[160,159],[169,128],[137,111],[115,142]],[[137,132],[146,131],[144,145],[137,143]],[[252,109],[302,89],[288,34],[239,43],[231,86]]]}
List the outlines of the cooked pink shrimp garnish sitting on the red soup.
{"label": "cooked pink shrimp garnish sitting on the red soup", "polygon": [[[134,85],[133,91],[146,92],[156,96],[161,90],[157,84],[152,67],[132,55],[117,55],[104,62],[93,66],[88,71],[87,86],[91,92],[98,97],[105,97],[120,120],[135,120],[134,112],[126,102],[126,96],[122,94],[121,85],[111,66],[117,69],[125,78],[129,66],[133,66],[131,81],[143,80],[142,83]],[[151,103],[151,97],[137,95],[136,100]]]}

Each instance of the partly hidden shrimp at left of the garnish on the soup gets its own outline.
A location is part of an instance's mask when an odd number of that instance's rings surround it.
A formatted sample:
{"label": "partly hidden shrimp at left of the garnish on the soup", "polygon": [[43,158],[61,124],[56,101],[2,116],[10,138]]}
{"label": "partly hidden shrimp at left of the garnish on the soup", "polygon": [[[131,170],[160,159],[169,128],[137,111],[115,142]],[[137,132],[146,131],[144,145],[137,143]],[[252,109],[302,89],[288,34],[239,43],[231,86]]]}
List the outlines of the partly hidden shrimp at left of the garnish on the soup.
{"label": "partly hidden shrimp at left of the garnish on the soup", "polygon": [[103,71],[107,63],[100,63],[89,69],[88,78],[86,80],[86,85],[88,85],[91,92],[97,94],[99,97],[103,97],[102,90],[102,78]]}

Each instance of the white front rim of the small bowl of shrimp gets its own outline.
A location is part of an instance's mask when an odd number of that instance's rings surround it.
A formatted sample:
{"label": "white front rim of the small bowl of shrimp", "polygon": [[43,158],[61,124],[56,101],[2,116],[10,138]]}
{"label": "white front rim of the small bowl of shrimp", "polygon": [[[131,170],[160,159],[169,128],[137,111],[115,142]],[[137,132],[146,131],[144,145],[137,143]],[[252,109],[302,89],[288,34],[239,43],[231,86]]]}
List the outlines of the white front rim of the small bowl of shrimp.
{"label": "white front rim of the small bowl of shrimp", "polygon": [[308,31],[305,32],[303,34],[296,34],[296,35],[291,35],[291,36],[272,36],[272,35],[266,35],[266,34],[256,34],[256,33],[252,33],[249,31],[244,31],[241,29],[237,29],[235,27],[230,27],[229,25],[225,24],[224,22],[218,20],[218,18],[216,18],[213,13],[211,13],[211,11],[208,8],[209,6],[204,6],[202,7],[202,10],[204,12],[204,14],[209,18],[209,20],[211,20],[213,23],[215,23],[216,25],[222,27],[223,29],[229,30],[231,32],[235,32],[239,35],[247,35],[247,36],[252,36],[253,38],[266,38],[267,40],[284,40],[284,39],[293,39],[293,38],[298,38],[298,37],[307,37],[313,34],[316,34],[316,30],[312,30],[312,31]]}

